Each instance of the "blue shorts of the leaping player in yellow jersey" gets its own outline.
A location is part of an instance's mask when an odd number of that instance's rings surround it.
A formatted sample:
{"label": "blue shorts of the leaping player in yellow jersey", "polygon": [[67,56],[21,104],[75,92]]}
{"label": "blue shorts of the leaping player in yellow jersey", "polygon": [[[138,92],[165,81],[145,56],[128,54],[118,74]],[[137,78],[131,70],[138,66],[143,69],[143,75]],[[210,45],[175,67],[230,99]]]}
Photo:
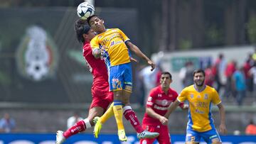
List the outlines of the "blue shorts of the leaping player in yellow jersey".
{"label": "blue shorts of the leaping player in yellow jersey", "polygon": [[109,84],[110,91],[125,90],[127,92],[132,92],[131,62],[110,67]]}

